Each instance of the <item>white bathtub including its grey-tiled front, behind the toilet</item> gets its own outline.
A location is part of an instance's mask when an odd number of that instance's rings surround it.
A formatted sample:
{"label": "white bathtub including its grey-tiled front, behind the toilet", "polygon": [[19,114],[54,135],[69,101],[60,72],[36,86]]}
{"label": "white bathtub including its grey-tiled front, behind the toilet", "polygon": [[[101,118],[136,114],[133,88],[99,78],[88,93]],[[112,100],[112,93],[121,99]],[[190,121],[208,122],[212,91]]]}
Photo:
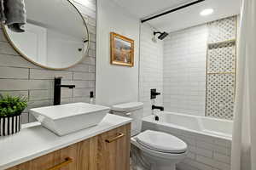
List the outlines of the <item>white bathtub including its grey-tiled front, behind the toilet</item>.
{"label": "white bathtub including its grey-tiled front, behind the toilet", "polygon": [[178,170],[230,170],[232,121],[162,111],[143,118],[143,130],[171,133],[188,144],[189,153]]}

